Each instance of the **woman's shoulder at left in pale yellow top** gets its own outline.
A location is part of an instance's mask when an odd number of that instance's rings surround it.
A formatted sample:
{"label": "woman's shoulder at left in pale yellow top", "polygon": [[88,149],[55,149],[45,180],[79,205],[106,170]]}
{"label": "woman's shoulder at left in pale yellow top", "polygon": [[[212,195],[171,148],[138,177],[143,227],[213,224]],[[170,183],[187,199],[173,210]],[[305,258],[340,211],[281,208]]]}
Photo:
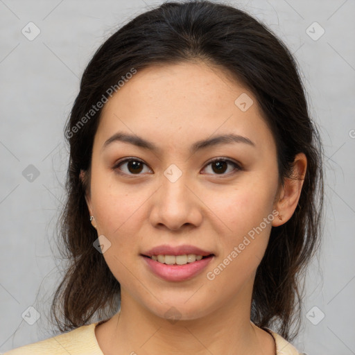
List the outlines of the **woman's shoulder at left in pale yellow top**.
{"label": "woman's shoulder at left in pale yellow top", "polygon": [[97,323],[83,325],[53,338],[17,347],[3,355],[103,355],[95,337]]}

